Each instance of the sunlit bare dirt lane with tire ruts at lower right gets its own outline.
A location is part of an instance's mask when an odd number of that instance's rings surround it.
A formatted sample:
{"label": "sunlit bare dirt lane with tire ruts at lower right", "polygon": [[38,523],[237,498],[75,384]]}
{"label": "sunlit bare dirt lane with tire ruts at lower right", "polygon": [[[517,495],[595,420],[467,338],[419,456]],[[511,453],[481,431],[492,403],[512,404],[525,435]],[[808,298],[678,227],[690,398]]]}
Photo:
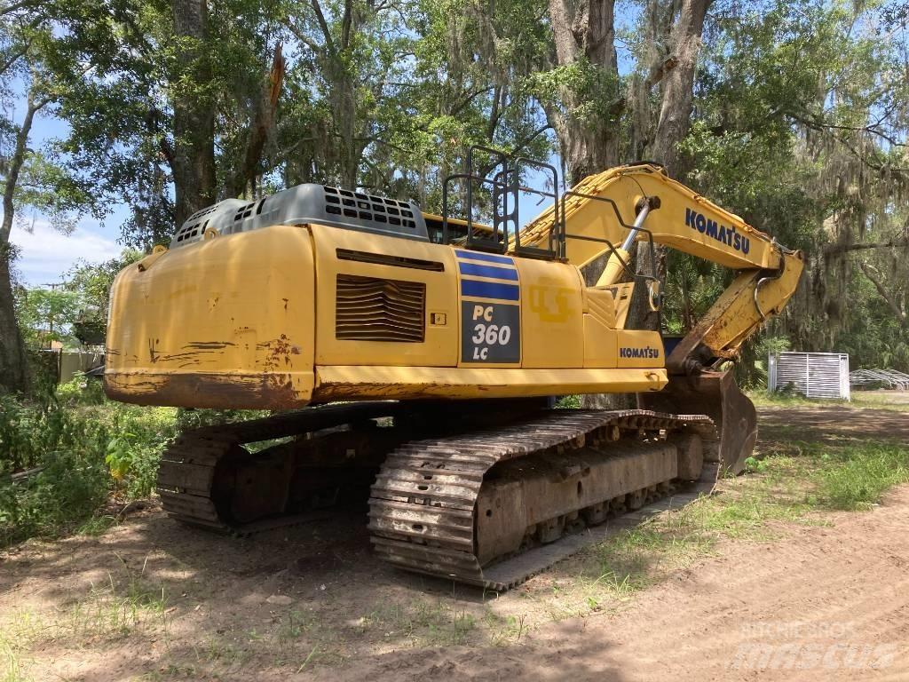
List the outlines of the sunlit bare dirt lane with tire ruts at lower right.
{"label": "sunlit bare dirt lane with tire ruts at lower right", "polygon": [[623,614],[554,624],[526,646],[402,651],[315,678],[906,679],[909,487],[834,524],[725,543]]}

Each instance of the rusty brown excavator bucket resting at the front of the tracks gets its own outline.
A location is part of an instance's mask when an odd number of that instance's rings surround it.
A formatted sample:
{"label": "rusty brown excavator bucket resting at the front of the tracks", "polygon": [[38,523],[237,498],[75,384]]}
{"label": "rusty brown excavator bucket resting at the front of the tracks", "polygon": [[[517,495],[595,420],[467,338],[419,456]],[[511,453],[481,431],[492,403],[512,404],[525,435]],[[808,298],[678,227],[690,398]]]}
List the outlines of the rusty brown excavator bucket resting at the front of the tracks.
{"label": "rusty brown excavator bucket resting at the front of the tracks", "polygon": [[[742,393],[732,372],[704,371],[695,376],[670,376],[659,393],[638,394],[644,409],[674,415],[706,415],[720,436],[719,462],[726,474],[744,470],[757,441],[757,410]],[[705,458],[709,457],[704,453]]]}

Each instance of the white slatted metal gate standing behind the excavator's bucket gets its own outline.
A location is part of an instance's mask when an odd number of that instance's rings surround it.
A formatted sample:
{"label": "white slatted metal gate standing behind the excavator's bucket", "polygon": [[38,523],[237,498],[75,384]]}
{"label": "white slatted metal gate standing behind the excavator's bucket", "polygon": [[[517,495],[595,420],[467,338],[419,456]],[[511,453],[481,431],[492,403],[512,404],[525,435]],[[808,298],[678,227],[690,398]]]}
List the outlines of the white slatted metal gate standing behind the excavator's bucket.
{"label": "white slatted metal gate standing behind the excavator's bucket", "polygon": [[767,363],[770,392],[791,386],[809,398],[849,400],[849,356],[845,353],[771,354]]}

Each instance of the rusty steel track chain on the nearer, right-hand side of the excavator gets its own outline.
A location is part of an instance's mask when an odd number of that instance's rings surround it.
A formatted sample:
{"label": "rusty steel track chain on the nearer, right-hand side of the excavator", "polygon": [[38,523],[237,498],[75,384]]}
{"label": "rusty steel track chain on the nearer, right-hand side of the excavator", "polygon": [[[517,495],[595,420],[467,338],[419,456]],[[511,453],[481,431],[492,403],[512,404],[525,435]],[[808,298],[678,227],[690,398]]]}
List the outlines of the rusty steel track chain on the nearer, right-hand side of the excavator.
{"label": "rusty steel track chain on the nearer, right-hand side of the excavator", "polygon": [[583,446],[586,436],[612,426],[639,438],[661,430],[697,433],[704,441],[704,470],[688,492],[697,496],[713,489],[717,438],[707,416],[649,410],[556,411],[498,429],[425,439],[395,449],[370,497],[369,528],[376,553],[395,567],[497,591],[524,582],[576,551],[578,537],[563,537],[484,571],[474,554],[474,506],[486,472],[506,459]]}

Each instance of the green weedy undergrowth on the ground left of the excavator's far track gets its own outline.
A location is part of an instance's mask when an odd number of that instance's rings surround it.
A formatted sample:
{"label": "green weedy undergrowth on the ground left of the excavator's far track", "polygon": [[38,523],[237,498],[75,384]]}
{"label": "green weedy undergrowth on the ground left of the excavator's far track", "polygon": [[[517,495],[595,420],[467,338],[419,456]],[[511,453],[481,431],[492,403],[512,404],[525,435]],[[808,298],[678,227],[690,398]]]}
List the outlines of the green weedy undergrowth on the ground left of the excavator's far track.
{"label": "green weedy undergrowth on the ground left of the excavator's far track", "polygon": [[175,410],[95,404],[72,384],[64,393],[48,406],[0,396],[0,546],[71,532],[112,492],[135,499],[155,488]]}

